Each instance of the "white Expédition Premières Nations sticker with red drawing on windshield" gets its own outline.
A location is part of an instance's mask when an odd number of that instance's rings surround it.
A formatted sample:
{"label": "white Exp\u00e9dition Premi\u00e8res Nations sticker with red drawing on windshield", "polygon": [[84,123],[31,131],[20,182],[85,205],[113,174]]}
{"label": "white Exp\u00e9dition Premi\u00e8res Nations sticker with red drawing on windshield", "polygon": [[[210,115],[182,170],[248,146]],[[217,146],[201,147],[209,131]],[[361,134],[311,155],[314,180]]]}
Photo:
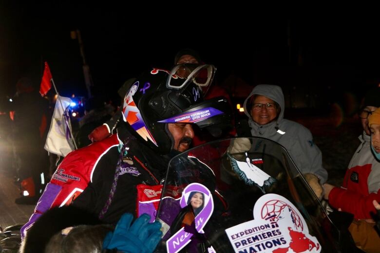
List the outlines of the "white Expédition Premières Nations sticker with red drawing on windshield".
{"label": "white Exp\u00e9dition Premi\u00e8res Nations sticker with red drawing on windshield", "polygon": [[321,246],[309,235],[304,217],[284,197],[266,194],[253,208],[255,219],[226,229],[236,253],[318,253]]}

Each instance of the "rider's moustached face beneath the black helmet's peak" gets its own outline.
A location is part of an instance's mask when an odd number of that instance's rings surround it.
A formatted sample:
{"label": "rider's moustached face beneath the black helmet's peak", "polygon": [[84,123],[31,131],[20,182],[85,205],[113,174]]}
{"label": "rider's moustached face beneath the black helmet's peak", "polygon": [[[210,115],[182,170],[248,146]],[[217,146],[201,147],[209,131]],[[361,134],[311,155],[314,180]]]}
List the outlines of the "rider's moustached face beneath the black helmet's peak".
{"label": "rider's moustached face beneath the black helmet's peak", "polygon": [[168,124],[169,132],[174,138],[174,150],[183,152],[190,148],[192,138],[194,138],[194,130],[191,124]]}

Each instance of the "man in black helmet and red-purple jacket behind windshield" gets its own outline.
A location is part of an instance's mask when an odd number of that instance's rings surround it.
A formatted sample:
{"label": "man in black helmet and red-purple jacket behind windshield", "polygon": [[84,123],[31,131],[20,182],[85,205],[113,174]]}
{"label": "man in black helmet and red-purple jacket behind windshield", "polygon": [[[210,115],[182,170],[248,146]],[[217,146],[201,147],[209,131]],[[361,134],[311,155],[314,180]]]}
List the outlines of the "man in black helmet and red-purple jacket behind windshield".
{"label": "man in black helmet and red-purple jacket behind windshield", "polygon": [[[45,211],[69,204],[108,224],[126,212],[135,217],[148,213],[154,220],[168,162],[190,147],[192,126],[216,134],[218,124],[229,122],[225,98],[203,99],[214,72],[212,65],[184,64],[141,75],[124,98],[115,133],[65,157],[22,235]],[[43,250],[36,233],[28,233],[25,244]]]}

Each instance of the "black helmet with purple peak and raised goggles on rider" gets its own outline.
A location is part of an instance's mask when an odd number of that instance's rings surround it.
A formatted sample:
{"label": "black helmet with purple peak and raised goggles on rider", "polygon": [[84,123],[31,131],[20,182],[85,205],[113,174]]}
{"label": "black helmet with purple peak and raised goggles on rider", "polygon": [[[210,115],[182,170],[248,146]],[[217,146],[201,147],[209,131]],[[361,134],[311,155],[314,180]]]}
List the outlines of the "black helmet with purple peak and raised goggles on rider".
{"label": "black helmet with purple peak and raised goggles on rider", "polygon": [[223,97],[204,100],[214,72],[213,65],[183,64],[171,72],[153,68],[143,73],[124,97],[123,120],[159,154],[174,145],[168,123],[193,123],[217,133],[218,124],[230,122],[230,112]]}

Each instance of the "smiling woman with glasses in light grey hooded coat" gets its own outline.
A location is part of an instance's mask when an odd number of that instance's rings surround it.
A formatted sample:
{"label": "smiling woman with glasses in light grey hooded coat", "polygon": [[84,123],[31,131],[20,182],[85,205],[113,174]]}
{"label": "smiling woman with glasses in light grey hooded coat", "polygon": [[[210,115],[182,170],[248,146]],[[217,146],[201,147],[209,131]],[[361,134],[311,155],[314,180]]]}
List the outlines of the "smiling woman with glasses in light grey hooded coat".
{"label": "smiling woman with glasses in light grey hooded coat", "polygon": [[309,129],[284,119],[284,110],[284,94],[276,85],[258,85],[244,101],[251,135],[283,145],[303,174],[313,174],[323,184],[327,171],[322,166],[321,150]]}

